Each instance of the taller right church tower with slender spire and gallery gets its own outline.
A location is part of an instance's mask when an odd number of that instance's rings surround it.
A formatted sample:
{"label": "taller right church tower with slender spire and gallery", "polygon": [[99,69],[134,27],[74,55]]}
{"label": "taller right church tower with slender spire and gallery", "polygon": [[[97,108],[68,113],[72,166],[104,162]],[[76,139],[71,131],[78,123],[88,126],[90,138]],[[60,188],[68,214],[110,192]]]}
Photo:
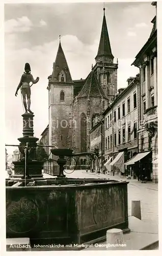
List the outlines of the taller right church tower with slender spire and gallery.
{"label": "taller right church tower with slender spire and gallery", "polygon": [[117,94],[117,69],[118,63],[114,63],[114,56],[111,50],[109,33],[106,25],[105,8],[103,8],[103,22],[96,65],[93,67],[95,75],[101,84],[106,97],[111,101]]}

